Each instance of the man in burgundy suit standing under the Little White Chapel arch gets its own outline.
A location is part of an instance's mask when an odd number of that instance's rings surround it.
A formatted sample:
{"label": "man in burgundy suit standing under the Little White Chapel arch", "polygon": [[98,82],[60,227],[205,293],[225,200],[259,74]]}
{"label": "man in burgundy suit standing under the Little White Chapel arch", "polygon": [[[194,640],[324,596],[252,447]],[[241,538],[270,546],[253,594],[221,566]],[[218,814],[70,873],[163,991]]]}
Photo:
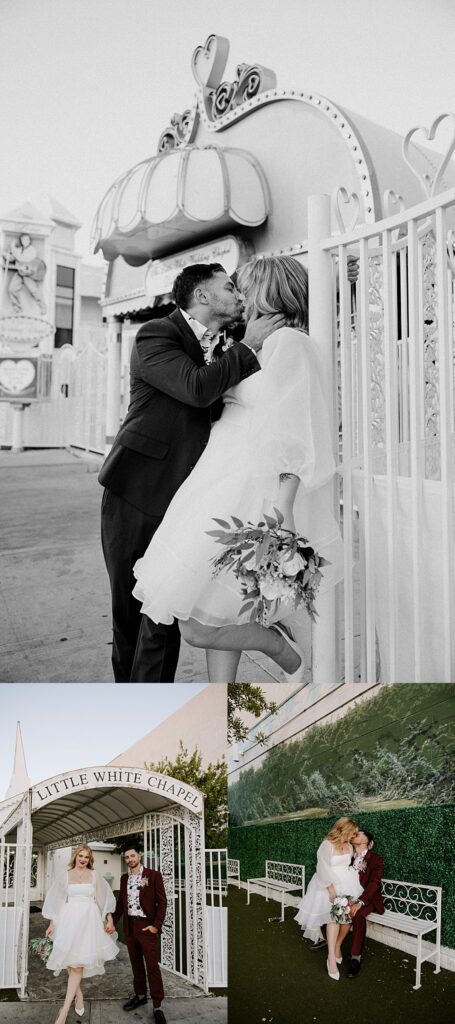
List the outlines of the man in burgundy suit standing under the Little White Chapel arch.
{"label": "man in burgundy suit standing under the Little White Chapel arch", "polygon": [[123,934],[131,961],[134,995],[124,1004],[124,1010],[135,1010],[147,1002],[147,978],[154,1004],[155,1024],[166,1024],[161,1010],[164,998],[163,981],[158,964],[158,935],[166,913],[167,899],[160,871],[143,867],[135,844],[124,849],[127,874],[120,880],[120,894],[113,913],[113,924],[106,931],[114,932],[123,916]]}

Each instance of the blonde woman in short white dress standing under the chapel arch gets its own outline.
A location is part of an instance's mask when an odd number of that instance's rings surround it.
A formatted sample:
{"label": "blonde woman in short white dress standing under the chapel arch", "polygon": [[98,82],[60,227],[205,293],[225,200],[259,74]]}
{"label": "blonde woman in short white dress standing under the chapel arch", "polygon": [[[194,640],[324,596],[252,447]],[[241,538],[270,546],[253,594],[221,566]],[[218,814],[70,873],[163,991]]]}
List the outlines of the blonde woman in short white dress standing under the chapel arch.
{"label": "blonde woman in short white dress standing under the chapel arch", "polygon": [[73,999],[78,1017],[84,1013],[82,978],[105,974],[105,963],[119,953],[115,937],[107,935],[104,924],[112,925],[116,900],[105,879],[93,870],[89,846],[78,846],[68,871],[49,889],[42,915],[50,925],[46,937],[52,938],[52,952],[46,967],[58,975],[68,971],[68,988],[55,1024],[65,1024]]}

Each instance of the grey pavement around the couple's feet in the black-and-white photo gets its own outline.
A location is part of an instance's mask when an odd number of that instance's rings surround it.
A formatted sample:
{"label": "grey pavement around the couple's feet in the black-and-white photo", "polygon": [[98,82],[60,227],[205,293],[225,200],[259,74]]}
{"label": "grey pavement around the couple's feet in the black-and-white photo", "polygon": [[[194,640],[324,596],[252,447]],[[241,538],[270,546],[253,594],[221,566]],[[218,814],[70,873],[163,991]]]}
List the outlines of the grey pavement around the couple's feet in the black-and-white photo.
{"label": "grey pavement around the couple's feet in the black-and-white photo", "polygon": [[[113,682],[100,463],[63,450],[0,451],[1,682]],[[243,655],[239,681],[282,678],[262,654]],[[182,643],[176,680],[206,679],[204,652]]]}

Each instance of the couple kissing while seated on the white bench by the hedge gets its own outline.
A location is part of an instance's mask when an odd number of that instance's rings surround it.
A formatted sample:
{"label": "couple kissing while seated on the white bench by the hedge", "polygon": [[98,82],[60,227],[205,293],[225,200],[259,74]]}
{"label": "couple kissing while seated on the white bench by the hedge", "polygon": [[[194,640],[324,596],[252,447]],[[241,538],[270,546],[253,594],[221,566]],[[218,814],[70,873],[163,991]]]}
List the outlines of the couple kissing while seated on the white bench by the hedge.
{"label": "couple kissing while seated on the white bench by the hedge", "polygon": [[384,912],[383,860],[373,853],[374,839],[350,818],[338,818],[318,850],[317,868],[300,900],[297,924],[312,950],[327,948],[327,973],[339,981],[342,943],[351,930],[348,978],[362,966],[367,918]]}

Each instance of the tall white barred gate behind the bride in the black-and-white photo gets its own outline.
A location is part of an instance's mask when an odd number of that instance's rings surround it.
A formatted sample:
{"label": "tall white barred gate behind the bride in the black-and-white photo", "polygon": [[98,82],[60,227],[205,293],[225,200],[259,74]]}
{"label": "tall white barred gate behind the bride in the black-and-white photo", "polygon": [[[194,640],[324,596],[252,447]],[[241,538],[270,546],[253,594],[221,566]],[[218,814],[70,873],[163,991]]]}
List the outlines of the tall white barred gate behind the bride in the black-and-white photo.
{"label": "tall white barred gate behind the bride in the black-and-white photo", "polygon": [[339,300],[347,682],[455,679],[454,224],[450,189],[338,237],[323,217],[313,276],[309,250],[311,310]]}

